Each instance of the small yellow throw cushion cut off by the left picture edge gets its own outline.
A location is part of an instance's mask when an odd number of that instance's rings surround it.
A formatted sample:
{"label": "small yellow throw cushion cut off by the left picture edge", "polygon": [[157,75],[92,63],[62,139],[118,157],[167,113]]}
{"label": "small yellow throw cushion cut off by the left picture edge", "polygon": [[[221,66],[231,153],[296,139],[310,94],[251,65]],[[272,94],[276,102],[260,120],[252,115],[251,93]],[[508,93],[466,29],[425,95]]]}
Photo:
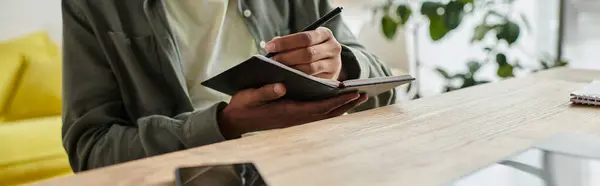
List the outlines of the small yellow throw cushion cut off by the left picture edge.
{"label": "small yellow throw cushion cut off by the left picture edge", "polygon": [[23,72],[23,64],[19,54],[0,53],[0,121],[14,95],[15,85]]}

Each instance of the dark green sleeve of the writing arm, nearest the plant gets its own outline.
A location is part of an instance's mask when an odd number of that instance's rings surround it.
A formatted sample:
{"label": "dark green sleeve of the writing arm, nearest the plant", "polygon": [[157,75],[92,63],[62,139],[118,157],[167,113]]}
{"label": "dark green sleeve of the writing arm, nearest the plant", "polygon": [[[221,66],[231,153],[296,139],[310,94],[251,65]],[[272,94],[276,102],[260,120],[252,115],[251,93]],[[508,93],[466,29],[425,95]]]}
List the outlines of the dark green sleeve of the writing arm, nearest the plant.
{"label": "dark green sleeve of the writing arm, nearest the plant", "polygon": [[[329,0],[317,1],[319,4],[318,11],[321,16],[333,10]],[[346,72],[347,79],[366,79],[392,75],[391,70],[382,61],[375,55],[366,52],[365,47],[358,43],[356,37],[342,21],[341,16],[332,19],[325,26],[333,32],[335,38],[342,44],[342,69]],[[386,106],[394,104],[395,101],[396,92],[392,89],[376,97],[370,97],[366,103],[349,112]]]}

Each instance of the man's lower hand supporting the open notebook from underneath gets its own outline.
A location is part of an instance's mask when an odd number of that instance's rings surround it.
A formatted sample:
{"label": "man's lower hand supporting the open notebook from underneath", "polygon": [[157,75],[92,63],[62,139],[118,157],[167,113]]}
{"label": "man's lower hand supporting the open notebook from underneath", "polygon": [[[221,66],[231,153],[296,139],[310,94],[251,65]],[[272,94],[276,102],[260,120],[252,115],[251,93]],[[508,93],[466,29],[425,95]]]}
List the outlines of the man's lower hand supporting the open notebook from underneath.
{"label": "man's lower hand supporting the open notebook from underneath", "polygon": [[282,84],[240,91],[219,113],[221,133],[234,139],[248,132],[305,124],[340,116],[367,101],[366,95],[358,93],[315,102],[273,101],[285,93]]}

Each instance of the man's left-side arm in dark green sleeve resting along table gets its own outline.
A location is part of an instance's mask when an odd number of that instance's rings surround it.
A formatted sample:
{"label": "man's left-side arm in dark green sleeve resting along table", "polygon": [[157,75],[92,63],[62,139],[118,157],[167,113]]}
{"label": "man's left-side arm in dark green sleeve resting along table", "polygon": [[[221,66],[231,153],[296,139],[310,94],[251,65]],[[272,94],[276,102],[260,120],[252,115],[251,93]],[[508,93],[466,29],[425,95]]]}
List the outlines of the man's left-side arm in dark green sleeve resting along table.
{"label": "man's left-side arm in dark green sleeve resting along table", "polygon": [[93,29],[78,7],[62,6],[62,137],[75,172],[224,140],[217,124],[224,103],[172,118],[130,118]]}

